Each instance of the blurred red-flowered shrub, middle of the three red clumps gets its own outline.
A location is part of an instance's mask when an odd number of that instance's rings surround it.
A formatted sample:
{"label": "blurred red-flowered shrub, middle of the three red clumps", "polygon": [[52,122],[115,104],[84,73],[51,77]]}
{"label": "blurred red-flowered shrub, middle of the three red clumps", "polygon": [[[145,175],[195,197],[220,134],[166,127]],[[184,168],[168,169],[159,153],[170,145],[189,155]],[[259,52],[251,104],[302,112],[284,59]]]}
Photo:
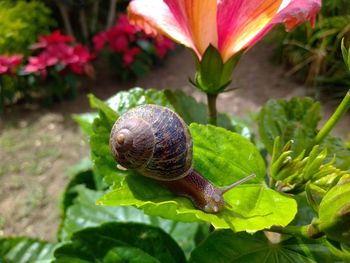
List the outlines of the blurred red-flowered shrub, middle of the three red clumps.
{"label": "blurred red-flowered shrub, middle of the three red clumps", "polygon": [[94,55],[86,46],[72,42],[71,36],[55,31],[40,36],[32,46],[37,54],[29,57],[22,74],[30,80],[30,88],[46,98],[46,103],[65,96],[75,97],[77,75],[94,77],[90,64]]}

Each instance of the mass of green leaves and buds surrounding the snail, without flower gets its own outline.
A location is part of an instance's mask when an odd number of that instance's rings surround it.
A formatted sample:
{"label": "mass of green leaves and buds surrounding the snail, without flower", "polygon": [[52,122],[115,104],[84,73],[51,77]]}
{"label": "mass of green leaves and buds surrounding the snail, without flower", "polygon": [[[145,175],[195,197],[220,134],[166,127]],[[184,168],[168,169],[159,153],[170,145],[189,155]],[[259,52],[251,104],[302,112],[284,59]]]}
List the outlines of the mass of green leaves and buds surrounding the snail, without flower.
{"label": "mass of green leaves and buds surrounding the snail, without flower", "polygon": [[[349,260],[347,239],[338,237],[343,230],[348,231],[344,204],[349,200],[346,170],[350,160],[338,161],[341,158],[337,156],[343,152],[343,157],[349,157],[349,149],[330,136],[322,144],[314,144],[320,120],[318,103],[295,98],[269,101],[262,108],[258,124],[261,140],[271,155],[267,161],[244,123],[220,114],[219,123],[226,128],[204,125],[205,105],[182,92],[134,88],[106,102],[92,95],[89,99],[96,112],[75,115],[74,119],[89,137],[91,160],[70,169],[71,181],[61,201],[58,241],[3,238],[1,260]],[[223,187],[251,173],[256,178],[225,194],[229,207],[218,214],[206,214],[154,180],[117,169],[108,145],[112,125],[118,116],[145,103],[167,106],[183,116],[193,137],[194,167],[211,183]],[[278,187],[282,184],[293,186],[288,194],[286,187]],[[334,206],[335,200],[339,203]],[[341,211],[341,216],[332,209]],[[312,240],[308,238],[311,230],[327,236]]]}

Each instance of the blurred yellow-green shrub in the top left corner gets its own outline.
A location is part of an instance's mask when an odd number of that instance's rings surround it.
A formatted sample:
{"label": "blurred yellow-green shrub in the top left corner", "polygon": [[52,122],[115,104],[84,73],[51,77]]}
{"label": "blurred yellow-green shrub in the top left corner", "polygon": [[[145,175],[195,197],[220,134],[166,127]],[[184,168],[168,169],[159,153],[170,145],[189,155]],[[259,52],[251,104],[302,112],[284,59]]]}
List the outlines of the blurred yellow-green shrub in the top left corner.
{"label": "blurred yellow-green shrub in the top left corner", "polygon": [[0,2],[0,54],[28,54],[28,46],[55,23],[41,2]]}

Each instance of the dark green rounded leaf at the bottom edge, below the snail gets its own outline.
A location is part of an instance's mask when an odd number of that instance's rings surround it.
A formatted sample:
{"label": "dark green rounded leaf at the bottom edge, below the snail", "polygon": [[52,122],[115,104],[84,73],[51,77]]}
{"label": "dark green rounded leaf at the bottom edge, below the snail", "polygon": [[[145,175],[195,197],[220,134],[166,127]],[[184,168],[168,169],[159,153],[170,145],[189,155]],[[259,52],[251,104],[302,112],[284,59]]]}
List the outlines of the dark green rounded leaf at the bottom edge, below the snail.
{"label": "dark green rounded leaf at the bottom edge, below the snail", "polygon": [[137,258],[140,250],[159,262],[186,262],[180,247],[163,230],[137,223],[108,223],[76,232],[70,243],[55,250],[53,262],[101,262],[117,254],[130,258],[127,254],[133,252]]}

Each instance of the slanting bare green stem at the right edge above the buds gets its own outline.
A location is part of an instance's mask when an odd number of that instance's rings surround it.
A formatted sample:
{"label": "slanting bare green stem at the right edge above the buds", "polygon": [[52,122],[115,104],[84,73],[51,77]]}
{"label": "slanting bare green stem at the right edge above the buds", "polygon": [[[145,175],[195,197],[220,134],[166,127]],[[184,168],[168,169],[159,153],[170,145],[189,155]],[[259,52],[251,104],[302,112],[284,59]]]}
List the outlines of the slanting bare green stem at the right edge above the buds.
{"label": "slanting bare green stem at the right edge above the buds", "polygon": [[344,114],[350,108],[350,90],[346,93],[344,99],[339,104],[336,111],[329,118],[326,124],[321,128],[318,134],[315,137],[315,145],[320,144],[324,138],[331,132],[331,130],[337,125],[339,120],[344,116]]}

